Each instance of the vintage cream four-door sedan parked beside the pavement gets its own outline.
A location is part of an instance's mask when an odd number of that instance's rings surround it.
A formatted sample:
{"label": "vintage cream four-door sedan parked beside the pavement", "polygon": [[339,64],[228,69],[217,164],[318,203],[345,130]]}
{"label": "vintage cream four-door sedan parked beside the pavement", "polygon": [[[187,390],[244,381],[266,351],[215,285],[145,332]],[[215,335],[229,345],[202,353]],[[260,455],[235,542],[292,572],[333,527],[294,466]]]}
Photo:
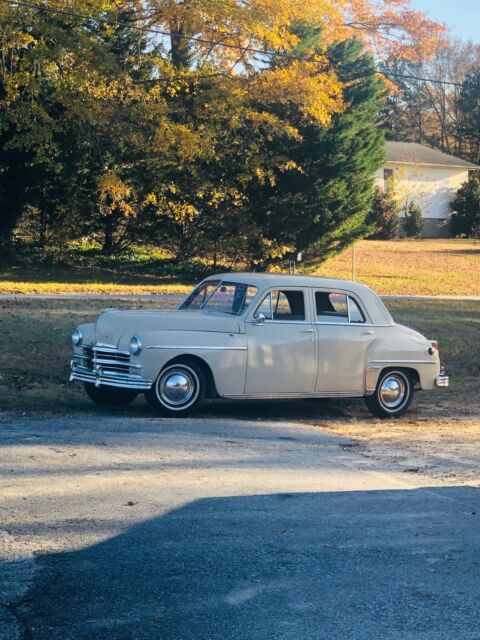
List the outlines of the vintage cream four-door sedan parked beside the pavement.
{"label": "vintage cream four-door sedan parked beside the pavement", "polygon": [[368,287],[268,273],[203,280],[177,311],[108,309],[75,329],[71,380],[99,404],[144,392],[163,415],[203,398],[364,397],[399,416],[448,386],[438,345],[396,324]]}

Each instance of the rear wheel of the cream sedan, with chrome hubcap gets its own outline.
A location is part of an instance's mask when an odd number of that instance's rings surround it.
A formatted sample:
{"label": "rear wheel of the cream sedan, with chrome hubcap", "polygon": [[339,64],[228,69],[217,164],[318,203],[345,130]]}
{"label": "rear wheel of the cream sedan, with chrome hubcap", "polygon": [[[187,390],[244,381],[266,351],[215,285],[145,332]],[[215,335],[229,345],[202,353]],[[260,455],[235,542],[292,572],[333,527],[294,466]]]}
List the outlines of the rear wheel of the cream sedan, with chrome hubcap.
{"label": "rear wheel of the cream sedan, with chrome hubcap", "polygon": [[375,393],[365,398],[365,404],[378,418],[397,418],[410,406],[414,386],[411,375],[406,371],[382,371]]}

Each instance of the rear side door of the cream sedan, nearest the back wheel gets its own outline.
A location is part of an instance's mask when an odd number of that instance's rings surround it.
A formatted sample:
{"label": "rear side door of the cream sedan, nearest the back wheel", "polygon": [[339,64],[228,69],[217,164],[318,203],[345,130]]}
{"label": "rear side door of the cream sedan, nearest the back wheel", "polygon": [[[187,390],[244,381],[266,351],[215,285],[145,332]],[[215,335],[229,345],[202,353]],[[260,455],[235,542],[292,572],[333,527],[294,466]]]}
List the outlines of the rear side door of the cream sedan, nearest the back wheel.
{"label": "rear side door of the cream sedan, nearest the back wheel", "polygon": [[347,291],[315,289],[312,303],[318,344],[315,391],[362,395],[375,327],[360,300]]}

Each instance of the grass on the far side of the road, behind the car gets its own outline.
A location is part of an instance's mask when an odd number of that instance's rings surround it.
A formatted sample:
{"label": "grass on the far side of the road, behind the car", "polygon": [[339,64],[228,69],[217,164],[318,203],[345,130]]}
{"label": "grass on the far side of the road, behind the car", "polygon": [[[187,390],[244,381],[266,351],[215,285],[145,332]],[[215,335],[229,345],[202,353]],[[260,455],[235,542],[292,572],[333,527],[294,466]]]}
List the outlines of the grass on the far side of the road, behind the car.
{"label": "grass on the far side of the road, behind the car", "polygon": [[[322,265],[317,275],[352,277],[352,249]],[[356,244],[356,279],[383,295],[480,296],[480,242],[473,240],[364,240]],[[72,252],[68,260],[41,258],[0,266],[0,294],[187,293],[205,273],[190,273],[155,250],[127,256]]]}

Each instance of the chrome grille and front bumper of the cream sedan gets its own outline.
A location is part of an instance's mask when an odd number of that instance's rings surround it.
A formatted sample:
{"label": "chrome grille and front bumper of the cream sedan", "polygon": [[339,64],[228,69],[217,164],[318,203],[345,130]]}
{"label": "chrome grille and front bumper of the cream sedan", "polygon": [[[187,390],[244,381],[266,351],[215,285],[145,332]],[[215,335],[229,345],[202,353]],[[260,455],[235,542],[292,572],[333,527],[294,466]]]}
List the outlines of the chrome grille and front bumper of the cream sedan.
{"label": "chrome grille and front bumper of the cream sedan", "polygon": [[[86,345],[82,354],[74,354],[70,363],[70,382],[91,382],[96,387],[119,387],[147,391],[152,386],[138,372],[141,364],[131,363],[127,351],[105,347],[104,345]],[[133,369],[133,371],[132,371]]]}

